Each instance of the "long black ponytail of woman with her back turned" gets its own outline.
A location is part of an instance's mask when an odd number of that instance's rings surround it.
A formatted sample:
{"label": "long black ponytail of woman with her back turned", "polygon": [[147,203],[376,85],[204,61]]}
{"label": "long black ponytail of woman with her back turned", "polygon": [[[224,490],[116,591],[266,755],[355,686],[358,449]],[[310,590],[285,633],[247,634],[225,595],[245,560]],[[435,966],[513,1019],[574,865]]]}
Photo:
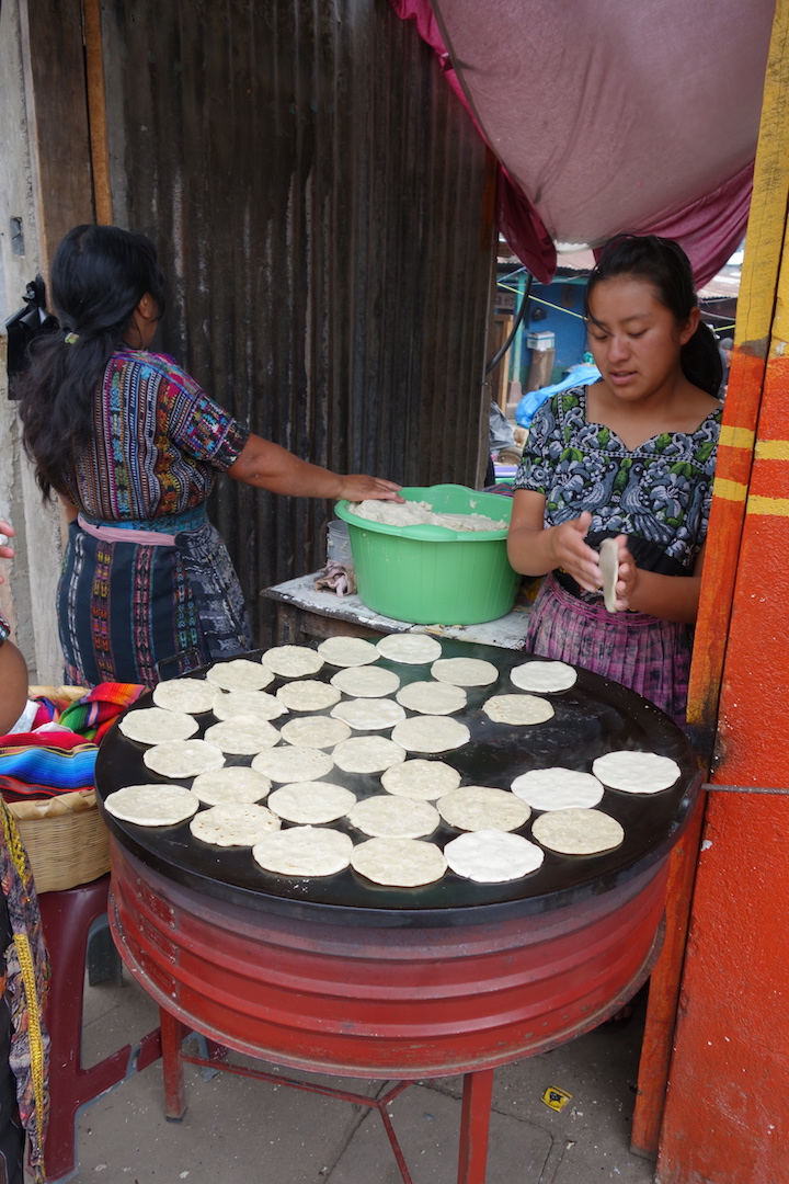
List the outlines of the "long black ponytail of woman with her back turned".
{"label": "long black ponytail of woman with her back turned", "polygon": [[30,366],[14,384],[25,451],[45,498],[67,489],[66,476],[93,431],[98,385],[131,314],[150,292],[161,316],[163,289],[156,249],[144,234],[75,226],[58,246],[50,290],[60,330],[33,342]]}

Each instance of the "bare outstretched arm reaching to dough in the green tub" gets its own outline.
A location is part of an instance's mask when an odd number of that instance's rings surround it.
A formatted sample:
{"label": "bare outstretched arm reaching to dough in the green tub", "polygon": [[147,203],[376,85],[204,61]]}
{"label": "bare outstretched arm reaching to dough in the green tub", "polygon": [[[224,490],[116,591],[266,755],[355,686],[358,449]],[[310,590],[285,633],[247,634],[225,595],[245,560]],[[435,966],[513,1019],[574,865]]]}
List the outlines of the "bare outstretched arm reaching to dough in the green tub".
{"label": "bare outstretched arm reaching to dough in the green tub", "polygon": [[347,497],[361,502],[366,497],[384,501],[402,501],[400,485],[382,477],[364,474],[339,474],[322,469],[293,456],[279,444],[272,444],[260,436],[250,436],[239,458],[227,470],[233,481],[241,481],[257,489],[269,489],[272,494],[290,494],[295,497]]}

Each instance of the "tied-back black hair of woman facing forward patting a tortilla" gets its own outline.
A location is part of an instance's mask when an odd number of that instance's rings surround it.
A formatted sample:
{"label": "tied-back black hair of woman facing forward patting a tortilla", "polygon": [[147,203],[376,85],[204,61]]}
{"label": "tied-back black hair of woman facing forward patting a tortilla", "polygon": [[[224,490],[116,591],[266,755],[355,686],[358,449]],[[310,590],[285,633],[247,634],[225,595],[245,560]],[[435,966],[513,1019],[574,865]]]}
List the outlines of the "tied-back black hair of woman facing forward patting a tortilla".
{"label": "tied-back black hair of woman facing forward patting a tortilla", "polygon": [[[687,323],[698,304],[690,259],[679,243],[671,238],[659,238],[658,234],[615,234],[609,238],[587,283],[584,311],[588,320],[594,321],[589,313],[591,292],[597,284],[614,276],[644,279],[680,326]],[[683,346],[679,358],[687,381],[717,398],[723,380],[723,362],[714,334],[703,321]]]}

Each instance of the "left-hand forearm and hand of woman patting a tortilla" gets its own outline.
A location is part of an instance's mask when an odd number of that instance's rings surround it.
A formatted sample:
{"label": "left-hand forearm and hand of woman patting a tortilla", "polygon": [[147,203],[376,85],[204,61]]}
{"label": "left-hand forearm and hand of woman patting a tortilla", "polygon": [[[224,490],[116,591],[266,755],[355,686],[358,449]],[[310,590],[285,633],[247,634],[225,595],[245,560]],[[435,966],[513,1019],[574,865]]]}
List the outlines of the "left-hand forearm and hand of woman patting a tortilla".
{"label": "left-hand forearm and hand of woman patting a tortilla", "polygon": [[561,567],[587,592],[602,587],[599,555],[583,541],[591,514],[561,526],[544,525],[545,497],[531,489],[518,489],[512,498],[507,555],[516,572],[545,575]]}

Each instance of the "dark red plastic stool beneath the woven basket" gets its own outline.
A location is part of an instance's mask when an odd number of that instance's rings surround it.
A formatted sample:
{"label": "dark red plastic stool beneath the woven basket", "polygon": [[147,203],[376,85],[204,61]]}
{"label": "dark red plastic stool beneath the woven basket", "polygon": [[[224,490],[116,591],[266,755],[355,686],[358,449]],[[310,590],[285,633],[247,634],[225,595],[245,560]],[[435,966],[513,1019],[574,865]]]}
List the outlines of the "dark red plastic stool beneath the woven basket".
{"label": "dark red plastic stool beneath the woven basket", "polygon": [[[39,896],[52,982],[44,1012],[52,1040],[50,1122],[44,1143],[46,1180],[67,1179],[76,1170],[77,1119],[80,1111],[162,1055],[160,1030],[138,1044],[125,1044],[93,1064],[82,1066],[85,963],[89,940],[106,928],[109,875],[90,884]],[[98,979],[106,972],[98,972]],[[91,983],[96,979],[90,977]]]}

